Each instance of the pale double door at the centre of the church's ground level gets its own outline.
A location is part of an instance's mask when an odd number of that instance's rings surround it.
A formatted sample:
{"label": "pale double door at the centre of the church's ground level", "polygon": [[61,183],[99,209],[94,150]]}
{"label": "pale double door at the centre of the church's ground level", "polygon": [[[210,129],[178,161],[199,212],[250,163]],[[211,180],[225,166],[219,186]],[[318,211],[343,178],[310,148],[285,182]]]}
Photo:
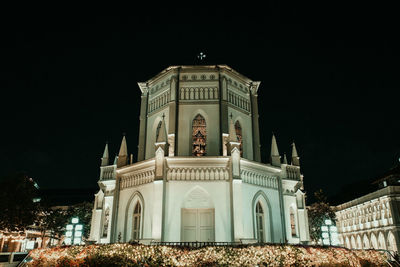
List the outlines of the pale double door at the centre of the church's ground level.
{"label": "pale double door at the centre of the church's ground level", "polygon": [[214,209],[182,209],[182,242],[214,242]]}

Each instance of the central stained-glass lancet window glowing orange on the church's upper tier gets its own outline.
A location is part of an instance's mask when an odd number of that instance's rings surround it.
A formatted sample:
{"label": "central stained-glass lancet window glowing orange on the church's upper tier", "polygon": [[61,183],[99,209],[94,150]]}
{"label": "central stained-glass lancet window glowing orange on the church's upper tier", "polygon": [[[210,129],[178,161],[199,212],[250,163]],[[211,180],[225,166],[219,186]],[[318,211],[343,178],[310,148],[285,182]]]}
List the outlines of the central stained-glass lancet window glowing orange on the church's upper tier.
{"label": "central stained-glass lancet window glowing orange on the church's upper tier", "polygon": [[198,114],[192,122],[192,155],[201,157],[206,155],[206,120]]}

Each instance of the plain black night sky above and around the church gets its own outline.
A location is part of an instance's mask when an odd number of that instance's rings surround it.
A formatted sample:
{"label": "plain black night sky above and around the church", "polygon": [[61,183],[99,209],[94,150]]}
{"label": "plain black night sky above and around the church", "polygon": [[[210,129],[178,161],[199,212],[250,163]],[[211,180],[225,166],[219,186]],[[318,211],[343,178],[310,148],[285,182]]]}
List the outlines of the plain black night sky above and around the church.
{"label": "plain black night sky above and around the church", "polygon": [[115,155],[126,132],[136,156],[136,83],[169,65],[198,64],[200,51],[204,64],[261,81],[263,161],[272,131],[281,153],[295,140],[308,194],[337,194],[397,162],[394,6],[176,6],[116,15],[5,10],[0,176],[24,170],[42,188],[96,188],[106,141]]}

